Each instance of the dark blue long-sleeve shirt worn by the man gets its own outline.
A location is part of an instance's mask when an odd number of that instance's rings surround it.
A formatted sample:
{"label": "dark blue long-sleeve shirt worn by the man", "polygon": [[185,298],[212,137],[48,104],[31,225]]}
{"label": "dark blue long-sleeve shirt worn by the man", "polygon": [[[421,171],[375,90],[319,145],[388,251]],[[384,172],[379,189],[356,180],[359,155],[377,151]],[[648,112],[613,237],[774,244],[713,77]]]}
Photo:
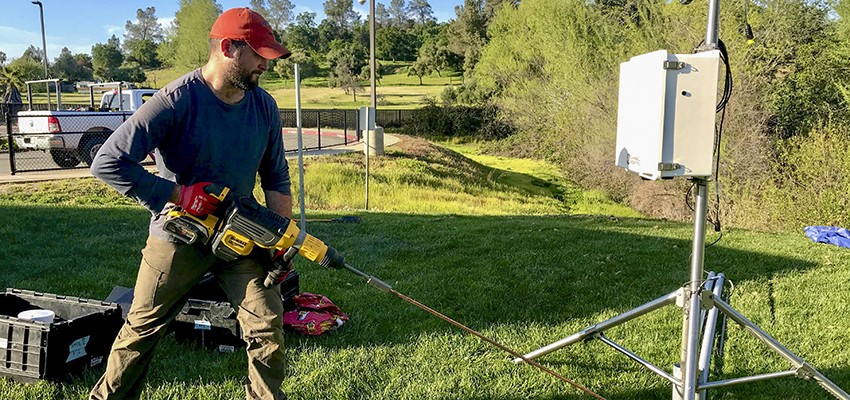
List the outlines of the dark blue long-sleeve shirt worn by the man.
{"label": "dark blue long-sleeve shirt worn by the man", "polygon": [[[139,163],[153,152],[159,176]],[[124,122],[101,147],[92,175],[153,214],[150,234],[175,241],[159,218],[174,184],[212,182],[251,196],[257,174],[263,190],[291,195],[277,104],[266,91],[246,91],[237,104],[221,101],[201,70],[169,83]]]}

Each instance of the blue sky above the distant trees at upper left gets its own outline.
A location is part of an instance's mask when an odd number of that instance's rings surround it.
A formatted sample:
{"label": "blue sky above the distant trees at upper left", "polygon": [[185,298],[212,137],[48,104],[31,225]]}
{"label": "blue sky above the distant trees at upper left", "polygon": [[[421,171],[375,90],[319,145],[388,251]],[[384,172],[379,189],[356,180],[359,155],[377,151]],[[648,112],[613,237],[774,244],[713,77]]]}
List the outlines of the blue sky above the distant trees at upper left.
{"label": "blue sky above the distant trees at upper left", "polygon": [[[217,0],[223,9],[246,7],[248,0]],[[47,57],[53,61],[63,47],[72,53],[91,54],[95,43],[105,43],[113,34],[124,40],[127,20],[136,20],[139,8],[156,7],[156,16],[163,27],[170,24],[177,12],[178,0],[41,0],[44,7],[44,27],[47,38]],[[389,0],[378,0],[389,6]],[[292,0],[295,14],[305,11],[317,14],[316,22],[324,19],[322,0]],[[455,17],[455,5],[463,0],[429,0],[434,17],[440,22]],[[354,10],[365,16],[368,3],[354,1]],[[363,18],[365,19],[365,18]],[[0,51],[7,62],[18,58],[30,45],[41,48],[41,21],[38,6],[30,0],[2,0],[0,6]]]}

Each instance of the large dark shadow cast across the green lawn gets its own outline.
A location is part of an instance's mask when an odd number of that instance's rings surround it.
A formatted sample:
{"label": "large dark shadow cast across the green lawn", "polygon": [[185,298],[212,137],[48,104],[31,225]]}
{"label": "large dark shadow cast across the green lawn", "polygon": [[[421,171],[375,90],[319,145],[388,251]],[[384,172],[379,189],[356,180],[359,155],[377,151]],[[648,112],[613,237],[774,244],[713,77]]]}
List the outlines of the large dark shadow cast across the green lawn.
{"label": "large dark shadow cast across the green lawn", "polygon": [[[554,331],[544,335],[546,338],[565,337],[574,333],[575,327],[601,322],[675,291],[689,276],[691,226],[687,224],[581,216],[361,216],[360,224],[308,223],[308,231],[337,248],[355,268],[479,331],[507,327],[523,336],[525,330],[536,327]],[[116,285],[132,286],[147,219],[148,213],[138,208],[0,206],[4,222],[0,226],[0,287],[103,299]],[[706,270],[725,272],[738,284],[754,282],[761,287],[759,282],[776,276],[819,267],[798,256],[810,246],[804,240],[776,237],[776,243],[768,240],[759,252],[746,250],[747,240],[724,240],[706,251]],[[456,332],[347,271],[325,270],[300,258],[296,269],[302,291],[328,296],[350,317],[330,335],[288,335],[287,348],[296,353],[302,348],[404,347],[414,345],[423,335]],[[757,324],[772,320],[762,318],[772,312],[768,299],[750,306],[761,310],[757,315],[761,319],[751,317]],[[680,326],[680,312],[674,314],[679,320],[671,325]],[[800,334],[816,335],[821,328],[808,327]],[[529,351],[549,343],[542,340],[530,335],[522,342],[524,348],[517,350]],[[174,376],[178,381],[193,382],[198,376],[234,379],[244,372],[241,353],[213,354],[185,348],[168,338],[163,346],[152,369],[153,385],[173,381]],[[677,349],[678,343],[672,347]],[[793,346],[789,348],[794,351]],[[191,361],[187,363],[184,357]],[[556,366],[573,362],[563,357],[547,362]],[[593,362],[593,354],[580,359],[585,362],[582,371],[591,376],[601,373],[598,368],[610,367],[607,359]],[[839,386],[850,382],[846,368],[821,372]],[[96,375],[85,375],[75,384],[92,384]],[[791,385],[788,393],[798,396],[794,390],[799,383],[787,378],[780,381],[788,380],[792,382],[787,384]],[[752,385],[755,391],[743,393],[757,396],[758,388],[770,391],[786,385],[777,386],[774,381]],[[634,387],[608,390],[604,395],[609,399],[668,398],[669,387],[660,386],[644,391]],[[813,390],[820,392],[817,387]],[[717,391],[723,393],[720,398],[743,398],[735,389]]]}

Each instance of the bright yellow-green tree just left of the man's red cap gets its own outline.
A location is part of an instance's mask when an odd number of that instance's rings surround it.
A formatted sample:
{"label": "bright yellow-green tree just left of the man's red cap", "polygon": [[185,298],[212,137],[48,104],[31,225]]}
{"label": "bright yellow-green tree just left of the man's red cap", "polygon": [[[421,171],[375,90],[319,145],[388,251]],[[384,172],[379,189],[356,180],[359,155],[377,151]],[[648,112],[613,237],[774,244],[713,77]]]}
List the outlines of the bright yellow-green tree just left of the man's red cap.
{"label": "bright yellow-green tree just left of the man's red cap", "polygon": [[195,69],[210,58],[210,29],[221,14],[215,0],[180,0],[175,14],[177,32],[173,64],[181,69]]}

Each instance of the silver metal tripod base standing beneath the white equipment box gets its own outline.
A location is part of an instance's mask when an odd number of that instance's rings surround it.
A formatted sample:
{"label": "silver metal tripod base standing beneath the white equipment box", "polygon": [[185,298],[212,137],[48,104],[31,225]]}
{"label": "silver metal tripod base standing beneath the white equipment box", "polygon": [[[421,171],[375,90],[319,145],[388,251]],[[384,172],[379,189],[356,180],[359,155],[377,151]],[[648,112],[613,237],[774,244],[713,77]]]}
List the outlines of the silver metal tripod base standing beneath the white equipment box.
{"label": "silver metal tripod base standing beneath the white equipment box", "polygon": [[[796,376],[807,380],[813,379],[836,398],[840,400],[850,400],[850,395],[848,395],[847,392],[827,379],[823,374],[803,361],[802,358],[785,348],[785,346],[780,344],[776,339],[761,330],[758,326],[756,326],[756,324],[723,301],[721,299],[725,280],[725,276],[723,274],[710,272],[707,275],[707,279],[703,278],[706,204],[708,199],[708,190],[706,185],[707,180],[704,178],[694,178],[693,181],[696,185],[697,197],[696,209],[694,210],[694,239],[692,249],[693,258],[691,259],[691,278],[688,285],[676,292],[655,299],[607,321],[600,322],[586,328],[583,331],[575,333],[572,336],[558,342],[528,353],[524,357],[527,359],[534,359],[576,342],[598,339],[672,383],[674,400],[704,400],[706,399],[705,391],[707,389],[786,376]],[[703,282],[705,282],[705,284],[703,284]],[[604,332],[610,328],[631,321],[670,304],[677,304],[681,306],[684,311],[682,323],[682,353],[681,363],[679,364],[681,365],[680,373],[667,373],[662,368],[640,358],[638,355],[611,341],[604,335]],[[779,356],[791,364],[791,368],[782,372],[709,382],[708,375],[709,367],[711,366],[711,353],[715,346],[715,327],[717,326],[720,313],[723,313],[724,316],[737,322],[739,325],[744,327],[747,332],[755,336],[762,343],[766,344],[775,353],[779,354]],[[702,321],[705,321],[705,323],[701,327],[700,324]],[[698,352],[701,332],[703,342],[701,351]],[[722,346],[722,343],[719,345]],[[522,359],[517,358],[514,359],[514,362],[521,363],[523,361]]]}

